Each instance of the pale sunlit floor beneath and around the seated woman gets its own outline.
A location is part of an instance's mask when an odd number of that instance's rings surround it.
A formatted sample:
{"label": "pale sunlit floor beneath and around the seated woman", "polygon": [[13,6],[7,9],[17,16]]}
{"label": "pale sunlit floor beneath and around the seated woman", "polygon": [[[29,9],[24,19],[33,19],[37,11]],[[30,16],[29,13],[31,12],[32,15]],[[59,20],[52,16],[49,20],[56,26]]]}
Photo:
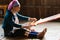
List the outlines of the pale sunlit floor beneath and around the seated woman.
{"label": "pale sunlit floor beneath and around the seated woman", "polygon": [[[2,26],[2,24],[0,24]],[[47,28],[47,33],[42,40],[60,40],[60,22],[47,22],[32,27],[37,32],[41,32],[44,28]],[[3,38],[3,30],[0,27],[0,39],[1,40],[40,40],[40,39],[20,39],[20,38]]]}

